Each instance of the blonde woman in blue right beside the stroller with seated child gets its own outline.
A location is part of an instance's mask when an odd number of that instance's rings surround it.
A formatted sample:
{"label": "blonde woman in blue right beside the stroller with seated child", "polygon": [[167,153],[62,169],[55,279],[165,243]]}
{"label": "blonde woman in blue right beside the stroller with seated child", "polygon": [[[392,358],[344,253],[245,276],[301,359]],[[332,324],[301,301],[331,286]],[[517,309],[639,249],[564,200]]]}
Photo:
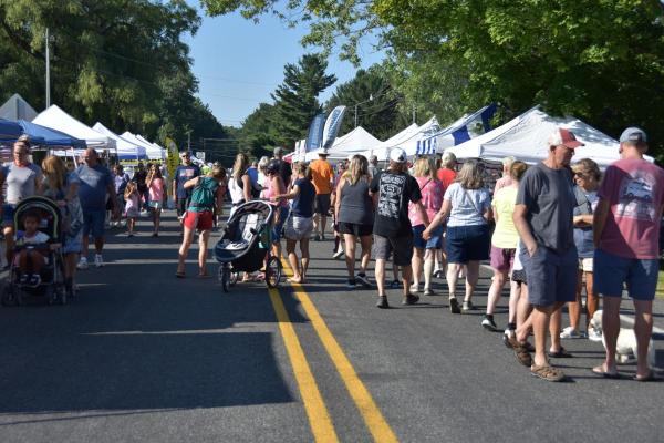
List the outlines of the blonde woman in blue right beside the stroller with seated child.
{"label": "blonde woman in blue right beside the stroller with seated child", "polygon": [[54,200],[63,214],[64,286],[74,295],[74,275],[83,238],[83,210],[79,200],[79,178],[66,169],[62,158],[50,155],[42,162],[44,196]]}

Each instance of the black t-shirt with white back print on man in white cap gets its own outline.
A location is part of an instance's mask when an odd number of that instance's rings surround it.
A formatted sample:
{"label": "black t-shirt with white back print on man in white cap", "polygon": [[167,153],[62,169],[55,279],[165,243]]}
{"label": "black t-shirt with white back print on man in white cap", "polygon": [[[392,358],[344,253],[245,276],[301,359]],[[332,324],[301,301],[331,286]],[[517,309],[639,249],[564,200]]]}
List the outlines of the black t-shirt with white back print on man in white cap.
{"label": "black t-shirt with white back print on man in white cap", "polygon": [[422,199],[417,181],[405,173],[385,171],[372,179],[370,190],[378,194],[374,234],[383,237],[412,236],[408,204]]}

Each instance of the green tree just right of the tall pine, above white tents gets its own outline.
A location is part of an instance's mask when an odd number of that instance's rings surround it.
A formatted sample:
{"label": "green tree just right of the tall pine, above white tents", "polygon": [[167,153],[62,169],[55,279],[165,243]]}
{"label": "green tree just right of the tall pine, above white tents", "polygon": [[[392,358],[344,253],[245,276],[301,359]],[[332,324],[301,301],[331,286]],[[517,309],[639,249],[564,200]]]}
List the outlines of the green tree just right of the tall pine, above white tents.
{"label": "green tree just right of the tall pine, above white tents", "polygon": [[[346,134],[355,127],[356,110],[357,126],[364,127],[377,138],[385,140],[402,126],[398,113],[401,100],[381,66],[374,65],[366,71],[357,71],[351,81],[339,85],[325,107],[331,111],[338,105],[347,106],[340,134]],[[400,124],[396,124],[397,122]]]}

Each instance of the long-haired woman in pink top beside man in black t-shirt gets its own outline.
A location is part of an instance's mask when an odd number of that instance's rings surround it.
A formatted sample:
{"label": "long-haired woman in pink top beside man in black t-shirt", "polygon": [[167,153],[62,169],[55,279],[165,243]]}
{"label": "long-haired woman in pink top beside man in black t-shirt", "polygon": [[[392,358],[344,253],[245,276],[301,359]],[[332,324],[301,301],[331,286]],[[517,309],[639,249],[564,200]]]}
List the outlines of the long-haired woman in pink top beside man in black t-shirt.
{"label": "long-haired woman in pink top beside man in black t-shirt", "polygon": [[[417,158],[413,167],[413,176],[419,186],[422,194],[422,204],[429,218],[434,219],[436,213],[443,206],[443,184],[436,177],[434,161],[428,157]],[[435,250],[443,246],[443,225],[432,230],[432,236],[428,240],[422,237],[424,233],[424,220],[416,210],[415,205],[408,207],[408,218],[413,225],[413,285],[411,292],[419,290],[419,278],[422,277],[424,265],[424,295],[433,296],[432,277],[434,274]]]}

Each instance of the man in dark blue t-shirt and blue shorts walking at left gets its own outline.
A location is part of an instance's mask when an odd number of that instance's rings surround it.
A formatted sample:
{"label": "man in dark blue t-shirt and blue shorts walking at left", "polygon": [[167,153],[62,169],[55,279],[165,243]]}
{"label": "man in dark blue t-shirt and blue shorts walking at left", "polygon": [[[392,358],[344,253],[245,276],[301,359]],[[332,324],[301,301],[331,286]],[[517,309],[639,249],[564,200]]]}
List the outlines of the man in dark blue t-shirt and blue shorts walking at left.
{"label": "man in dark blue t-shirt and blue shorts walking at left", "polygon": [[87,246],[90,234],[94,237],[94,265],[104,266],[102,249],[104,248],[104,222],[106,219],[106,198],[111,199],[114,216],[120,215],[115,183],[111,171],[100,163],[100,157],[92,147],[83,153],[84,165],[76,168],[74,174],[79,177],[79,199],[83,210],[83,244],[79,269],[87,269]]}

